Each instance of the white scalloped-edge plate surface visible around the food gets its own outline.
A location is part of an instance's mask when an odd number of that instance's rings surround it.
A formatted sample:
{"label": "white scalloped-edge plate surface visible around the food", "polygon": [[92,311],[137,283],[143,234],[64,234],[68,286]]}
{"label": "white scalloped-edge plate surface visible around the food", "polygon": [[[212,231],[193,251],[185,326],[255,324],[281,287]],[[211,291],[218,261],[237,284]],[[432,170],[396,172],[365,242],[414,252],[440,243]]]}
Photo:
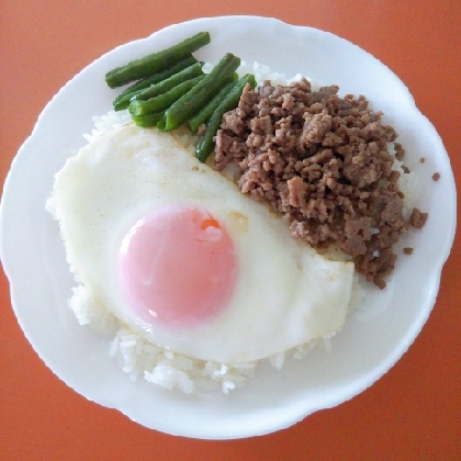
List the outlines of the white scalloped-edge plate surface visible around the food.
{"label": "white scalloped-edge plate surface visible around the food", "polygon": [[[351,315],[333,338],[333,353],[314,350],[289,360],[279,372],[267,364],[232,395],[187,396],[136,383],[108,359],[110,339],[81,327],[66,306],[72,278],[58,228],[45,212],[53,177],[85,144],[92,115],[111,109],[114,98],[104,74],[200,31],[212,43],[198,58],[216,64],[232,52],[272,70],[304,74],[340,94],[361,93],[385,113],[400,133],[407,165],[424,187],[417,206],[429,212],[421,231],[408,233],[389,288],[367,290],[361,314]],[[424,164],[419,158],[425,157]],[[438,182],[431,175],[438,171]],[[288,427],[315,411],[345,402],[381,378],[407,350],[436,300],[440,272],[454,236],[456,190],[449,158],[434,126],[415,106],[402,81],[383,64],[330,33],[273,19],[201,19],[164,29],[97,59],[47,104],[8,176],[1,203],[1,258],[11,283],[19,323],[44,362],[81,395],[117,408],[139,424],[195,438],[229,439]]]}

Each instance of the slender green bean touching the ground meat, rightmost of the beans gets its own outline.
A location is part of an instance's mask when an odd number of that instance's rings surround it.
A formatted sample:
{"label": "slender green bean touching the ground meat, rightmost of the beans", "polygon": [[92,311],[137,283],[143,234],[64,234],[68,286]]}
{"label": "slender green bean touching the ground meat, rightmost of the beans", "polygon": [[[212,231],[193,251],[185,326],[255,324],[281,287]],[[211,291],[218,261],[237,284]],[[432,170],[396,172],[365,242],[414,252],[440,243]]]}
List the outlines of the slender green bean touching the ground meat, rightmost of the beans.
{"label": "slender green bean touching the ground meat, rightmost of the beans", "polygon": [[210,154],[213,151],[213,137],[220,130],[223,115],[238,105],[238,101],[240,100],[240,95],[246,85],[249,85],[251,88],[255,88],[255,76],[252,76],[251,74],[247,74],[244,77],[241,77],[234,85],[234,88],[222,100],[221,104],[218,104],[217,108],[213,111],[213,114],[211,115],[209,123],[206,124],[206,130],[202,134],[202,136],[200,136],[199,144],[195,149],[195,157],[203,164],[206,161]]}

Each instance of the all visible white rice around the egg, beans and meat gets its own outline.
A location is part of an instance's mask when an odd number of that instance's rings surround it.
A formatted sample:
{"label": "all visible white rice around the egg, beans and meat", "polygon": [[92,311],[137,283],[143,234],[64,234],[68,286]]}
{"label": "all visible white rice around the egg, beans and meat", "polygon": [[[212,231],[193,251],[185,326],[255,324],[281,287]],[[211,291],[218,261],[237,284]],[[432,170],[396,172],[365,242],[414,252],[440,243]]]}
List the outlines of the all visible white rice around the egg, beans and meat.
{"label": "all visible white rice around the egg, beans and meat", "polygon": [[[204,65],[204,71],[212,69],[211,65]],[[245,61],[238,69],[240,76],[251,72],[258,83],[263,80],[271,80],[272,83],[289,85],[299,81],[302,76],[296,75],[292,79],[286,79],[283,74],[271,72],[268,66],[255,63],[248,65]],[[312,80],[310,80],[312,82]],[[313,85],[317,87],[317,85]],[[93,138],[115,130],[124,124],[131,123],[127,111],[109,112],[106,115],[94,116],[94,130],[91,134],[83,137],[91,142]],[[188,148],[191,154],[194,151],[196,136],[191,136],[188,130],[179,128],[173,132],[176,138]],[[401,168],[396,160],[395,169]],[[413,173],[402,175],[405,178],[401,181],[401,187],[406,198],[411,198],[411,191],[415,189],[416,179]],[[53,203],[47,202],[47,209],[53,213]],[[408,209],[409,210],[409,209]],[[378,229],[376,229],[378,232]],[[334,250],[329,257],[341,259],[341,256]],[[78,280],[76,280],[78,283]],[[109,356],[117,360],[123,372],[130,375],[132,381],[142,378],[147,382],[168,390],[177,389],[185,394],[195,393],[200,390],[220,390],[227,394],[229,391],[240,387],[248,378],[255,374],[257,361],[239,363],[218,363],[214,361],[196,360],[184,355],[177,353],[168,348],[164,348],[144,339],[142,335],[134,333],[123,325],[114,315],[91,296],[86,286],[78,284],[72,289],[74,294],[68,304],[80,325],[87,325],[103,335],[113,337]],[[359,276],[355,276],[352,296],[349,304],[349,312],[356,308],[362,299]],[[305,345],[300,345],[284,352],[276,353],[267,360],[277,370],[281,370],[286,358],[302,359],[312,349],[321,346],[326,353],[331,352],[330,338],[336,333],[326,337],[314,339]],[[266,360],[266,359],[265,359]]]}

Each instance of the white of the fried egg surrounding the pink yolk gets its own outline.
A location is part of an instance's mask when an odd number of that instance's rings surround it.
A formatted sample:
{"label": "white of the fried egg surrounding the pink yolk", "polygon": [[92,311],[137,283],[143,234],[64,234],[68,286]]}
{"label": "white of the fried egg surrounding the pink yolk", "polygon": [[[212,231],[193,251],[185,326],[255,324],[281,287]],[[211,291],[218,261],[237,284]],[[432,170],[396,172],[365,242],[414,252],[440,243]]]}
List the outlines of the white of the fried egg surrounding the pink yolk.
{"label": "white of the fried egg surrounding the pink yolk", "polygon": [[[344,325],[353,263],[330,261],[290,236],[286,223],[200,164],[168,133],[133,124],[83,147],[57,173],[52,200],[76,277],[122,323],[154,344],[203,360],[258,360]],[[117,283],[121,243],[156,206],[204,207],[238,258],[227,307],[194,328],[148,325]]]}

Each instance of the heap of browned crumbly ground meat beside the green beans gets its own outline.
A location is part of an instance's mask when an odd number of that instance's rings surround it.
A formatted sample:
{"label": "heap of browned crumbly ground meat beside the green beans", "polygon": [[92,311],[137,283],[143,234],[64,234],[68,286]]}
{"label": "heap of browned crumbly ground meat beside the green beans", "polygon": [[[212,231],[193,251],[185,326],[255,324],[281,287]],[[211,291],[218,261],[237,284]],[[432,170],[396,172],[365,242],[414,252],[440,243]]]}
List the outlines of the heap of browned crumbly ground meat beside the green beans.
{"label": "heap of browned crumbly ground meat beside the green beans", "polygon": [[387,150],[394,128],[362,95],[337,93],[337,86],[313,92],[305,79],[288,87],[266,81],[257,91],[247,86],[215,137],[215,168],[239,166],[241,192],[280,212],[295,238],[318,248],[336,244],[384,288],[396,259],[392,246],[427,215],[403,217],[392,167],[405,150],[398,143],[395,157]]}

